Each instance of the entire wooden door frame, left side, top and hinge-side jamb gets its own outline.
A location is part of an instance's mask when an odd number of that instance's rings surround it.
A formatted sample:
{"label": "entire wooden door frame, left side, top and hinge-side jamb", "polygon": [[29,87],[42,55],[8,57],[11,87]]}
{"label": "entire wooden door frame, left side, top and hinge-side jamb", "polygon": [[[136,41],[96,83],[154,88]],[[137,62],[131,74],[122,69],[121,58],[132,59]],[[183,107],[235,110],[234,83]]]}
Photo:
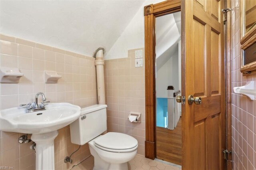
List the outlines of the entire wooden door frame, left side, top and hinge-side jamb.
{"label": "entire wooden door frame, left side, top and hinge-side jamb", "polygon": [[[228,6],[230,5],[230,0],[226,0]],[[145,157],[154,159],[156,158],[156,70],[155,70],[155,46],[156,46],[156,36],[155,36],[155,19],[158,16],[164,16],[167,14],[172,14],[174,12],[181,11],[181,0],[167,0],[160,2],[158,4],[150,4],[144,7],[145,16],[145,104],[146,104],[146,141],[145,141]],[[227,23],[231,21],[231,15],[227,17]],[[184,25],[184,21],[181,21]],[[228,24],[227,24],[228,25]],[[230,25],[228,25],[228,31],[230,31]],[[183,35],[184,36],[184,35]],[[224,68],[226,73],[224,74],[224,79],[230,80],[230,35],[227,38],[227,49],[226,54],[224,54]],[[183,42],[181,42],[184,46]],[[184,48],[182,48],[184,50]],[[184,53],[184,51],[182,51]],[[182,55],[182,57],[184,57]],[[226,99],[227,103],[224,108],[226,108],[226,127],[227,127],[227,149],[231,149],[231,86],[230,83],[226,83]],[[183,90],[184,93],[184,90]],[[229,160],[231,155],[228,156]],[[232,169],[232,164],[228,162],[228,170]]]}

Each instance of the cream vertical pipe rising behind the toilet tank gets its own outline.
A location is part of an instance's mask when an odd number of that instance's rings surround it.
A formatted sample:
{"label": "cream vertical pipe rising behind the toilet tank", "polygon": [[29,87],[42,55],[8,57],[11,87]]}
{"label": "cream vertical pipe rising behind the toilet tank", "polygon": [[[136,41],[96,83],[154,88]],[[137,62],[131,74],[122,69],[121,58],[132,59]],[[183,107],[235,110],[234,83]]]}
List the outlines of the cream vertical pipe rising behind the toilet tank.
{"label": "cream vertical pipe rising behind the toilet tank", "polygon": [[96,53],[96,74],[97,74],[97,90],[98,90],[98,103],[105,105],[105,82],[104,82],[104,60],[103,50],[99,50]]}

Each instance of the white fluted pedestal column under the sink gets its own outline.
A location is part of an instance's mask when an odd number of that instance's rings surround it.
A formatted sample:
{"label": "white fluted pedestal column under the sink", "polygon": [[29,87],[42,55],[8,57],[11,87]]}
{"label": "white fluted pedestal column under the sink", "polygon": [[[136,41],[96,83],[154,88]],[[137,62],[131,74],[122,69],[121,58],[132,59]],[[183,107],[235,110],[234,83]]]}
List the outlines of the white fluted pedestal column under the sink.
{"label": "white fluted pedestal column under the sink", "polygon": [[32,134],[31,140],[36,143],[36,170],[54,170],[54,139],[56,136],[58,136],[57,130]]}

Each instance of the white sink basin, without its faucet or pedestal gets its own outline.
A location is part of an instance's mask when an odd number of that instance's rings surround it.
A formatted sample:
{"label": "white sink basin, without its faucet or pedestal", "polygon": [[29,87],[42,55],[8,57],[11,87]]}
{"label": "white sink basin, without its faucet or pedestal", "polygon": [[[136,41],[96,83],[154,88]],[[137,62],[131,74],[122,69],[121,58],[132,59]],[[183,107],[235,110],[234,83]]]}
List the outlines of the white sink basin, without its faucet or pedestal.
{"label": "white sink basin, without its faucet or pedestal", "polygon": [[80,116],[81,108],[70,103],[49,103],[46,110],[26,113],[25,107],[4,109],[0,113],[0,130],[42,134],[63,128]]}

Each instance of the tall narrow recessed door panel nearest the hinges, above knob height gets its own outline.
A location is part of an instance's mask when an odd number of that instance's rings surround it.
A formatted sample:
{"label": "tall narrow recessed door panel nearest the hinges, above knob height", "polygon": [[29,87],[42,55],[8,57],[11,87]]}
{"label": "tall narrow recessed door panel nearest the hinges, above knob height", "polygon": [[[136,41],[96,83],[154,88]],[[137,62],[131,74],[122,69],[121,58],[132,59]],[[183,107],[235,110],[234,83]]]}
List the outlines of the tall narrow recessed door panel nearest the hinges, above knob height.
{"label": "tall narrow recessed door panel nearest the hinges, above knob height", "polygon": [[220,33],[215,30],[211,31],[211,69],[211,94],[216,95],[220,93]]}

